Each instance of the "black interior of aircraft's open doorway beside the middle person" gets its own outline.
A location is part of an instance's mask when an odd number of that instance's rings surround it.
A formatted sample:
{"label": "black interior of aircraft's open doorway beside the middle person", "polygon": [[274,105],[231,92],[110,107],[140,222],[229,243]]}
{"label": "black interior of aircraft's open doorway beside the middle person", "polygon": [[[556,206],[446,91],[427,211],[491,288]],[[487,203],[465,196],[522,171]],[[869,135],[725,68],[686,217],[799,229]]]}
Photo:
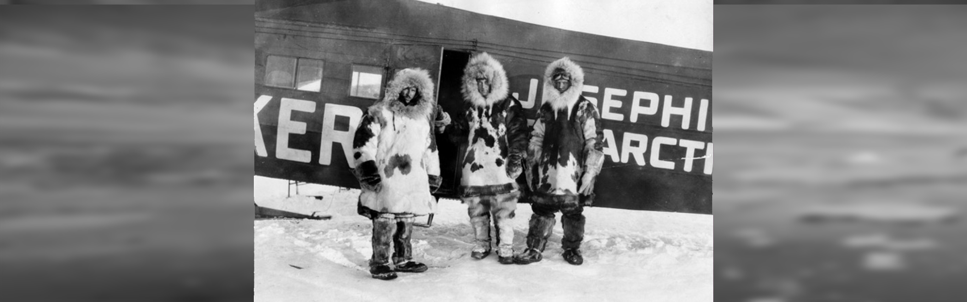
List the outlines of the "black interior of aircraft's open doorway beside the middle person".
{"label": "black interior of aircraft's open doorway beside the middle person", "polygon": [[[460,77],[463,76],[463,68],[470,60],[470,52],[457,50],[443,50],[443,60],[440,64],[440,87],[437,89],[437,102],[443,107],[444,111],[450,113],[454,122],[463,118],[463,97],[460,94]],[[466,147],[459,141],[454,141],[459,137],[449,136],[449,134],[436,136],[437,151],[440,154],[440,176],[443,177],[443,184],[437,191],[439,196],[455,196],[456,187],[459,185],[460,165],[459,159],[463,158]]]}

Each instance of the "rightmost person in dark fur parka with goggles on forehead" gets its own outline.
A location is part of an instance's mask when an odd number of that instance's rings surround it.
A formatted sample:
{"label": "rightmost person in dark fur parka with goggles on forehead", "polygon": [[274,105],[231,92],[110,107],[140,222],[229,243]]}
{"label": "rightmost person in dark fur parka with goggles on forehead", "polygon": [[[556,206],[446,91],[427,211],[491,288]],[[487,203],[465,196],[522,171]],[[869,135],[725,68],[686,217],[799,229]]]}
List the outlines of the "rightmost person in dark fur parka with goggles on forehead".
{"label": "rightmost person in dark fur parka with goggles on forehead", "polygon": [[533,194],[527,250],[514,257],[518,264],[542,259],[561,212],[561,246],[569,263],[584,262],[584,206],[594,202],[594,185],[601,165],[603,135],[598,108],[583,96],[584,72],[565,57],[544,70],[543,104],[534,122],[527,150],[527,180]]}

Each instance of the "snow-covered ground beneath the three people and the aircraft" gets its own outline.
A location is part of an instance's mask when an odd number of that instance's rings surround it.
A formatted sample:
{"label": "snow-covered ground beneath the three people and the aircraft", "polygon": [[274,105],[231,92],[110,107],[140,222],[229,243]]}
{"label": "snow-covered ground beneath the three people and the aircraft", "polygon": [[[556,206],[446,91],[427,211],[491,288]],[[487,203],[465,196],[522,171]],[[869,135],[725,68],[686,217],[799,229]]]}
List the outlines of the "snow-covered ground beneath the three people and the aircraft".
{"label": "snow-covered ground beneath the three people and the aircraft", "polygon": [[[254,184],[260,206],[333,215],[254,222],[256,301],[713,300],[711,215],[585,208],[583,265],[561,257],[560,222],[542,261],[502,265],[493,255],[470,257],[466,205],[441,199],[433,226],[413,233],[414,257],[430,270],[380,281],[366,267],[371,224],[356,214],[359,191],[310,185],[286,197],[284,180],[255,176]],[[517,252],[531,213],[530,204],[518,205]]]}

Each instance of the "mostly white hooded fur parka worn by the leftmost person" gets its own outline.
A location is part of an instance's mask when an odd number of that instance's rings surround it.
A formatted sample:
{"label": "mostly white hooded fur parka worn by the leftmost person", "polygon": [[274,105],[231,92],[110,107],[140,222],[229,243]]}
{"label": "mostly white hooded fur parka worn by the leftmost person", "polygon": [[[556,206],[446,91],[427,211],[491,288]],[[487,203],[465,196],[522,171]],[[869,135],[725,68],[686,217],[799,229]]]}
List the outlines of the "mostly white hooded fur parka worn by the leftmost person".
{"label": "mostly white hooded fur parka worn by the leftmost person", "polygon": [[[406,87],[419,93],[399,101]],[[433,133],[437,115],[433,82],[423,69],[404,69],[390,81],[382,101],[369,106],[353,139],[353,174],[360,181],[359,214],[397,218],[435,212],[431,193],[440,186]]]}

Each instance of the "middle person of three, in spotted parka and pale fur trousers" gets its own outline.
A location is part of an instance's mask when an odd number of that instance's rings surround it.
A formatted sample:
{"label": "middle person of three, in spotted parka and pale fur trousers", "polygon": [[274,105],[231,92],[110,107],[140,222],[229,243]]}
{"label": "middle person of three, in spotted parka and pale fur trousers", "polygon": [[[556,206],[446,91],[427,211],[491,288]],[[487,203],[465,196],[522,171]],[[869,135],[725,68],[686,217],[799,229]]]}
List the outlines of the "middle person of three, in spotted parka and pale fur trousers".
{"label": "middle person of three, in spotted parka and pale fur trousers", "polygon": [[511,220],[520,192],[514,179],[520,175],[527,153],[527,119],[520,102],[510,96],[504,67],[486,52],[470,58],[463,70],[466,111],[454,128],[466,139],[467,152],[460,163],[462,177],[457,193],[467,204],[475,244],[471,257],[491,251],[490,216],[496,229],[497,258],[513,263]]}

